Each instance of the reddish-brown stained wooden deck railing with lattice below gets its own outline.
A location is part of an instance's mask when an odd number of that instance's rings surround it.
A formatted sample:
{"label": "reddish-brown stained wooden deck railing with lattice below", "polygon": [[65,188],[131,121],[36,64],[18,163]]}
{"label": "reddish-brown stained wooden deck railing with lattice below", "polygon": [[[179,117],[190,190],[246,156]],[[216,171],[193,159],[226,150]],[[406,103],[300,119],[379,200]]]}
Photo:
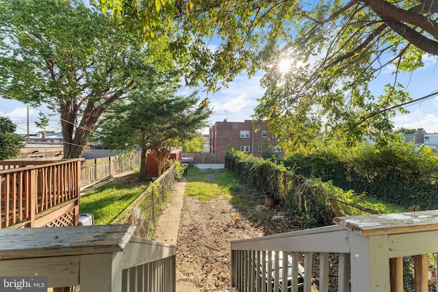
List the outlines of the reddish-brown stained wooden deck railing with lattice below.
{"label": "reddish-brown stained wooden deck railing with lattice below", "polygon": [[0,228],[77,224],[80,159],[0,165]]}

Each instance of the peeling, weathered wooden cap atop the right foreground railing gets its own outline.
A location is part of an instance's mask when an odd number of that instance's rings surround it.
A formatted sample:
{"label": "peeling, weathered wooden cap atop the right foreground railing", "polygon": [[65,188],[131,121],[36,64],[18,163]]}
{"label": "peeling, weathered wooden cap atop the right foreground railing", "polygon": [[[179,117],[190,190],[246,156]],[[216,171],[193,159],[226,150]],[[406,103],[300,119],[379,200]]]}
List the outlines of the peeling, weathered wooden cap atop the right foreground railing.
{"label": "peeling, weathered wooden cap atop the right foreground railing", "polygon": [[341,228],[362,236],[438,230],[438,210],[335,217]]}

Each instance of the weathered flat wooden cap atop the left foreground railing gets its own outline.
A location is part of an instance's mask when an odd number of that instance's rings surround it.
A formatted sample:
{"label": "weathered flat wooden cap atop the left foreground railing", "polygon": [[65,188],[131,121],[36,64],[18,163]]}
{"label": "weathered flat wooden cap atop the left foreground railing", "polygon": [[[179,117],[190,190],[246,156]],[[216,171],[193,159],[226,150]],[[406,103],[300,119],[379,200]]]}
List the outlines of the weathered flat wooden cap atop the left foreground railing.
{"label": "weathered flat wooden cap atop the left foreground railing", "polygon": [[133,225],[0,229],[0,260],[121,252],[134,230]]}

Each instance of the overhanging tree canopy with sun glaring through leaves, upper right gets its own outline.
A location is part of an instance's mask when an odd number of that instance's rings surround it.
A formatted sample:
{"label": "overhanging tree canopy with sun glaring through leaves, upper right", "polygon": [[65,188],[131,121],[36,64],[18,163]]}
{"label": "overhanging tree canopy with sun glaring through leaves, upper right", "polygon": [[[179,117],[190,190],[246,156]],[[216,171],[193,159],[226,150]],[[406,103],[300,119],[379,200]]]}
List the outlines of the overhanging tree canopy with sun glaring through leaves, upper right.
{"label": "overhanging tree canopy with sun glaring through leaves, upper right", "polygon": [[[266,70],[255,119],[290,147],[321,131],[359,141],[386,132],[409,94],[400,72],[438,55],[438,4],[418,1],[101,0],[145,40],[168,40],[189,84],[213,90],[235,75]],[[215,49],[209,47],[214,38]],[[285,60],[288,60],[285,62]],[[281,74],[285,63],[293,70]],[[394,81],[379,94],[368,84],[385,67]],[[375,96],[376,95],[376,96]]]}

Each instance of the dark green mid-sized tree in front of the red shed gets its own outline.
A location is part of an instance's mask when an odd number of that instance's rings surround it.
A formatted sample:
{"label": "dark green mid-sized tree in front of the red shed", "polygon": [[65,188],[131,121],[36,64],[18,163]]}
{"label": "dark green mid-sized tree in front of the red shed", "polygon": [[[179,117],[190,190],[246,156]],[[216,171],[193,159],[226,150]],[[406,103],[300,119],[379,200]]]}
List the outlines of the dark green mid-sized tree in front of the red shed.
{"label": "dark green mid-sized tree in front of the red shed", "polygon": [[157,159],[161,175],[177,140],[193,137],[196,130],[207,125],[211,114],[207,107],[198,105],[196,92],[186,97],[175,96],[179,88],[176,72],[166,76],[155,72],[154,76],[155,79],[142,83],[136,92],[129,94],[127,102],[114,106],[99,131],[99,139],[110,148],[142,148],[143,177],[147,150]]}

